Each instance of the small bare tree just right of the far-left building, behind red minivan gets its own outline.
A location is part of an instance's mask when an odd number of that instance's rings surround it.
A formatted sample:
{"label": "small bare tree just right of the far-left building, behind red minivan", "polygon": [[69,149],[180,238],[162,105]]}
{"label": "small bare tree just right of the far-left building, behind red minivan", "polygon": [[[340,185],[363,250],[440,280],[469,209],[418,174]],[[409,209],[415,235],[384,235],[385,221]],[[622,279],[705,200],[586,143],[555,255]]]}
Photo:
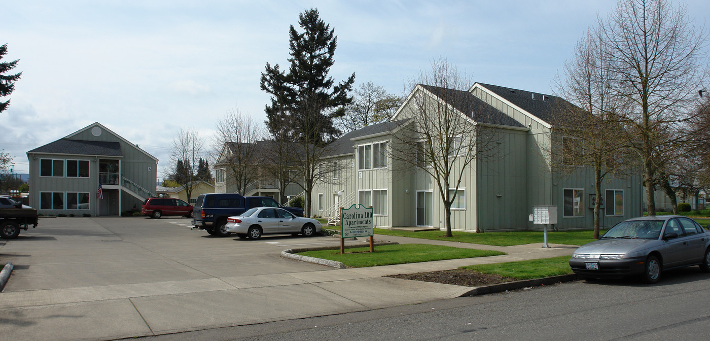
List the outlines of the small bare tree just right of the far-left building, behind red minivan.
{"label": "small bare tree just right of the far-left building, behind red minivan", "polygon": [[197,167],[204,153],[204,140],[195,130],[180,129],[178,134],[173,137],[169,153],[171,164],[178,165],[180,161],[183,165],[183,167],[176,167],[175,180],[185,188],[185,195],[190,201],[192,190],[197,187],[198,183]]}

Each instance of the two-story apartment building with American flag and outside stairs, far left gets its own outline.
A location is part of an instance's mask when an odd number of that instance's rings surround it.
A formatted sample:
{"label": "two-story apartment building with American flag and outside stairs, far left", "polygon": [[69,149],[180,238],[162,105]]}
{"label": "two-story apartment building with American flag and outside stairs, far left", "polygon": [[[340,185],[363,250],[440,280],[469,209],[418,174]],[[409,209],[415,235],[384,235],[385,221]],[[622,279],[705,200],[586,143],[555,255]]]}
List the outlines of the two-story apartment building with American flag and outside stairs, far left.
{"label": "two-story apartment building with American flag and outside stairs, far left", "polygon": [[155,196],[158,159],[98,122],[27,158],[30,205],[43,215],[120,215]]}

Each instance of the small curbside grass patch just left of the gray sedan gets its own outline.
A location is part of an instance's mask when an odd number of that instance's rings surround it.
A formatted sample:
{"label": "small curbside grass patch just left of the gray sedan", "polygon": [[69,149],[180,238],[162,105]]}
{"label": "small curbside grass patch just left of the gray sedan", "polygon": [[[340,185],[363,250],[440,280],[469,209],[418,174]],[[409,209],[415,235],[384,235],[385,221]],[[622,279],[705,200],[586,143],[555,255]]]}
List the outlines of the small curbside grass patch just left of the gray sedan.
{"label": "small curbside grass patch just left of the gray sedan", "polygon": [[510,261],[508,263],[480,264],[461,266],[484,274],[498,274],[516,279],[534,279],[549,276],[572,274],[569,269],[570,256],[559,256],[546,259],[532,259],[530,261]]}

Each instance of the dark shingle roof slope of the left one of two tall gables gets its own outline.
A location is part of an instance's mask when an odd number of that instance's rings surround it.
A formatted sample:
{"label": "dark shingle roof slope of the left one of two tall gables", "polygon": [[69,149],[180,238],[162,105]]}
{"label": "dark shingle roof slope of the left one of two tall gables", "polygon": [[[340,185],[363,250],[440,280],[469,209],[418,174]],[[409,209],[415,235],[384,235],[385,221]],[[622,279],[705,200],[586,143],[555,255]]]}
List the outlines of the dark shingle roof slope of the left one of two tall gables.
{"label": "dark shingle roof slope of the left one of two tall gables", "polygon": [[423,84],[422,87],[479,123],[523,127],[523,124],[515,121],[513,117],[503,114],[470,92]]}

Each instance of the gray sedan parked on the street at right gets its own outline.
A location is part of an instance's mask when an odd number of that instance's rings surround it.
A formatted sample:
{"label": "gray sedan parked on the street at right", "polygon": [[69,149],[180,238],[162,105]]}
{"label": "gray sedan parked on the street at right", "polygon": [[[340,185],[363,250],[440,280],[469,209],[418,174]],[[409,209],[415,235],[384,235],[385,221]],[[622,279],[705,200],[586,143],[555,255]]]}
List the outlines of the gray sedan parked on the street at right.
{"label": "gray sedan parked on the street at right", "polygon": [[694,265],[710,272],[710,232],[679,215],[624,220],[569,259],[583,278],[640,275],[646,283],[659,281],[661,271]]}

